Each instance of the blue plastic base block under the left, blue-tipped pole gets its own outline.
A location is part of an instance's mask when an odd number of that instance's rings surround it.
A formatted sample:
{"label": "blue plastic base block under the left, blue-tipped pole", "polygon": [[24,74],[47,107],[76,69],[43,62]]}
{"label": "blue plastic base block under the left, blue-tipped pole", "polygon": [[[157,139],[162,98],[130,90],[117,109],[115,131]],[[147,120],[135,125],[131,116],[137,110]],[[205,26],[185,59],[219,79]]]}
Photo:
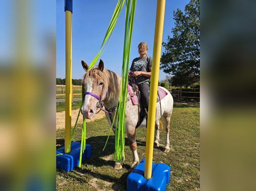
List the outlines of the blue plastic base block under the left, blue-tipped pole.
{"label": "blue plastic base block under the left, blue-tipped pole", "polygon": [[[56,154],[60,154],[56,156],[56,168],[60,167],[62,170],[65,171],[71,171],[73,168],[77,167],[79,165],[79,159],[80,159],[80,149],[81,144],[80,142],[72,142],[71,143],[71,152],[64,153],[64,148],[61,147],[56,150]],[[85,151],[82,153],[82,162],[91,156],[92,153],[92,147],[89,144],[85,144]]]}

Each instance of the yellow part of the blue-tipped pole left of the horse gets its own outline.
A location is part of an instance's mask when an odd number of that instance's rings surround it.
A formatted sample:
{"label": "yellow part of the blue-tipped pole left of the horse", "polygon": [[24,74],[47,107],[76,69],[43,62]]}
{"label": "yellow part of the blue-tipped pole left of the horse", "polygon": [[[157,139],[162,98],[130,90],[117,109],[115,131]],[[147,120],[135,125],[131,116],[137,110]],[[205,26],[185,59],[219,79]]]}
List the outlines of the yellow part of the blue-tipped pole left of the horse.
{"label": "yellow part of the blue-tipped pole left of the horse", "polygon": [[[66,111],[65,111],[65,153],[71,138],[71,88],[72,88],[72,12],[66,10]],[[69,152],[71,149],[69,150]]]}

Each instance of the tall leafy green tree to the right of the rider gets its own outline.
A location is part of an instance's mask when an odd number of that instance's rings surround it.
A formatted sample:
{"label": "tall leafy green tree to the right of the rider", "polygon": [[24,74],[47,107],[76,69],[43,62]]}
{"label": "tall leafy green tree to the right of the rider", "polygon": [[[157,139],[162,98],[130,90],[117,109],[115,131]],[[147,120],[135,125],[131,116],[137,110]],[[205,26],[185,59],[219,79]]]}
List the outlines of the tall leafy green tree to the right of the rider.
{"label": "tall leafy green tree to the right of the rider", "polygon": [[173,11],[173,37],[163,42],[160,69],[171,74],[173,86],[189,86],[200,81],[200,0],[190,0],[185,14]]}

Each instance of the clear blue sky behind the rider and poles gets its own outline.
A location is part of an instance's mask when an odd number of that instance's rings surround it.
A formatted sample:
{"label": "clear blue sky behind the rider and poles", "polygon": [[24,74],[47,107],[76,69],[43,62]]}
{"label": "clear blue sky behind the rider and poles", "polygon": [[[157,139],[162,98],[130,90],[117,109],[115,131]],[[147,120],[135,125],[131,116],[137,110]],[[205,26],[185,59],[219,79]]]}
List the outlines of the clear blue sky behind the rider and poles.
{"label": "clear blue sky behind the rider and poles", "polygon": [[[81,60],[88,65],[98,53],[107,31],[110,19],[118,0],[74,0],[72,14],[72,79],[82,79],[85,71]],[[162,41],[172,36],[174,27],[173,11],[179,8],[184,11],[189,0],[166,0]],[[138,44],[148,44],[148,56],[153,55],[156,0],[137,0],[129,67],[138,57]],[[123,59],[123,43],[125,29],[125,5],[120,13],[112,37],[101,59],[104,67],[121,75]],[[161,52],[164,52],[162,47]],[[98,61],[96,62],[98,64]],[[159,71],[159,80],[165,79],[163,71]],[[56,78],[65,78],[65,11],[64,0],[56,1]]]}

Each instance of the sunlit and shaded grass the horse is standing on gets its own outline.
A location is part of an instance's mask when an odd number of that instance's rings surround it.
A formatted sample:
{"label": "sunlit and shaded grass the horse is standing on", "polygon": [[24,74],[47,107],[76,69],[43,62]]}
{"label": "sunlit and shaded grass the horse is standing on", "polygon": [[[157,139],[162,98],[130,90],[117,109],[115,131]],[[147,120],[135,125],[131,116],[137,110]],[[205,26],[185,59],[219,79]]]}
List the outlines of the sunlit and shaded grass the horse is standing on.
{"label": "sunlit and shaded grass the horse is standing on", "polygon": [[[77,105],[80,106],[80,101]],[[200,190],[200,106],[199,102],[175,102],[171,116],[170,152],[164,153],[165,131],[160,130],[160,147],[153,150],[153,162],[170,165],[171,176],[166,190]],[[74,105],[75,107],[75,105]],[[56,106],[58,110],[60,107]],[[72,106],[73,109],[73,106]],[[78,124],[73,141],[81,141],[82,124]],[[92,155],[81,168],[71,172],[56,168],[56,190],[126,190],[132,152],[125,139],[125,164],[123,169],[113,169],[114,133],[106,118],[86,124],[86,143],[92,146]],[[139,159],[145,157],[146,128],[137,128]],[[64,129],[56,130],[56,149],[64,146]]]}

